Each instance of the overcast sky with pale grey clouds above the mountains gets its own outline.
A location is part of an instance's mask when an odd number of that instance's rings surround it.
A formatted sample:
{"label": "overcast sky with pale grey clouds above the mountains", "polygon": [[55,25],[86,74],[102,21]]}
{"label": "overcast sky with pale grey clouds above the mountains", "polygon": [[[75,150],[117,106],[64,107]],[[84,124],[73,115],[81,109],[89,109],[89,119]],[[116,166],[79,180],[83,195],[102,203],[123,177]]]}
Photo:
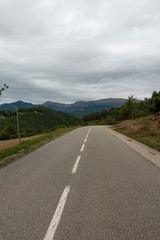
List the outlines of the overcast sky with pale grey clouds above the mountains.
{"label": "overcast sky with pale grey clouds above the mountains", "polygon": [[0,104],[160,91],[159,0],[0,0]]}

